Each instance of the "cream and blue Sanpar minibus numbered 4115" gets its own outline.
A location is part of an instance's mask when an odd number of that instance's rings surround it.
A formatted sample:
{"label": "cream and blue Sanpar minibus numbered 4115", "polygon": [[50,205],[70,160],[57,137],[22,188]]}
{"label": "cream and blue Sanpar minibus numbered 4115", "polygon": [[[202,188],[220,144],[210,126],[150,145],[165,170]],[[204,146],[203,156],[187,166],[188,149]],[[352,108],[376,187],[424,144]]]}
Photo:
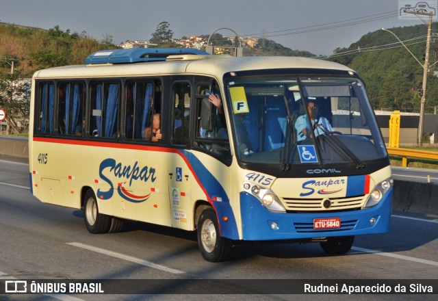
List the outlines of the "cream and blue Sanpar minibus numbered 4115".
{"label": "cream and blue Sanpar minibus numbered 4115", "polygon": [[38,200],[82,209],[90,233],[125,220],[196,231],[211,262],[244,241],[344,254],[389,230],[393,195],[354,70],[197,49],[98,51],[36,72],[29,174]]}

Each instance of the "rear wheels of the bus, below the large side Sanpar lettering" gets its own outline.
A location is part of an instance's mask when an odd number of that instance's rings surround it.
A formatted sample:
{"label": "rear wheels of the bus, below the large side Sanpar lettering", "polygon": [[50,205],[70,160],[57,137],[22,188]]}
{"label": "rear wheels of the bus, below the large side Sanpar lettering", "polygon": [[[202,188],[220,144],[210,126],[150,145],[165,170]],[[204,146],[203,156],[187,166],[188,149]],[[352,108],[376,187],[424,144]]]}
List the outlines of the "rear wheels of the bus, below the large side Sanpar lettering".
{"label": "rear wheels of the bus, below the large side Sanpar lettering", "polygon": [[107,233],[112,225],[112,217],[99,213],[96,196],[90,189],[83,200],[83,220],[88,232],[93,234]]}

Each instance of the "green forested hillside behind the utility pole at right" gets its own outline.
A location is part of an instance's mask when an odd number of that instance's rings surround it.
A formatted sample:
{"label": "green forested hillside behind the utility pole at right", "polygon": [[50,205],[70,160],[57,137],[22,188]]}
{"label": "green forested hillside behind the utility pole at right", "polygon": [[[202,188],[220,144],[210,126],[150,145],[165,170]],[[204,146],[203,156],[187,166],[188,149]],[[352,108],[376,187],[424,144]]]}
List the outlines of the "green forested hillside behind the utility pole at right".
{"label": "green forested hillside behind the utility pole at right", "polygon": [[[417,60],[424,64],[426,25],[389,30],[404,41]],[[432,32],[438,32],[437,23],[433,24]],[[438,60],[438,45],[434,39],[432,41],[429,57],[429,66],[432,67],[428,73],[426,113],[433,113],[435,105],[438,105],[438,79],[433,76],[437,66],[433,64]],[[365,34],[350,47],[335,49],[329,60],[347,65],[363,77],[374,109],[420,112],[424,70],[391,33],[378,30]]]}

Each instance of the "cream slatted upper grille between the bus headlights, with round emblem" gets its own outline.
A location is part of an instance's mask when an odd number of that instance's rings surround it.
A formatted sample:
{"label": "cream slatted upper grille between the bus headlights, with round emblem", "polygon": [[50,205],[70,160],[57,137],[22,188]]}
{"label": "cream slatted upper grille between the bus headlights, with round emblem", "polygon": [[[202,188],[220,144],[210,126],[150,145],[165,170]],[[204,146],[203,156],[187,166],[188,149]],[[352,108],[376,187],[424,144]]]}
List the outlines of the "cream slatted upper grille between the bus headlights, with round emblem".
{"label": "cream slatted upper grille between the bus headlights, with round emblem", "polygon": [[[329,208],[324,202],[330,201]],[[350,198],[281,198],[287,211],[347,211],[361,209],[366,200],[365,196]]]}

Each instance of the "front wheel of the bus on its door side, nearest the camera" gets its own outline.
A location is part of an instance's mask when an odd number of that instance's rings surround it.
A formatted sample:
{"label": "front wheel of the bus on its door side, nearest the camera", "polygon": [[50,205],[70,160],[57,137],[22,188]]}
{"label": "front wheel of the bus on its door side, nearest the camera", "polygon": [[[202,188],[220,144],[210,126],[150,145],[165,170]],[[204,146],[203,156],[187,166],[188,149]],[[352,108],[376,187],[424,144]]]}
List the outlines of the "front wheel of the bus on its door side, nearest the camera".
{"label": "front wheel of the bus on its door side, nearest the camera", "polygon": [[206,261],[226,261],[231,252],[231,240],[219,236],[216,212],[212,208],[205,209],[198,221],[198,246]]}

